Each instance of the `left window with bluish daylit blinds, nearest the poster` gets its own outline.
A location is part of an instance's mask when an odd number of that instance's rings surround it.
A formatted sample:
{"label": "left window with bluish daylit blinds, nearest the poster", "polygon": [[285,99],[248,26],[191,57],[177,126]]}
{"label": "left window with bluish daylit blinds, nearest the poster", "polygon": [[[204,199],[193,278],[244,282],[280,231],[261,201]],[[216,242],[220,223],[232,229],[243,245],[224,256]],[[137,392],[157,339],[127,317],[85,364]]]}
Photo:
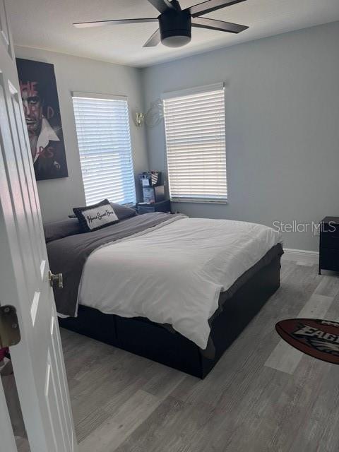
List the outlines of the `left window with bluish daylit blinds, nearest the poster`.
{"label": "left window with bluish daylit blinds, nearest the poster", "polygon": [[136,202],[126,97],[73,93],[85,199]]}

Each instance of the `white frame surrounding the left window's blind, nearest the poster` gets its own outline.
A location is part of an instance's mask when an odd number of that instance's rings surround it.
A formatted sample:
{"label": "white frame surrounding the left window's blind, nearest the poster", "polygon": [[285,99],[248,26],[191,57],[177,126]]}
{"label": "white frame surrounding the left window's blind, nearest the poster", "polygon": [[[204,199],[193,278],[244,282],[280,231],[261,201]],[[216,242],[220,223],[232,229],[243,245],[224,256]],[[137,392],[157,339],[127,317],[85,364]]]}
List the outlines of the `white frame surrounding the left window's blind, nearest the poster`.
{"label": "white frame surrounding the left window's blind, nearest the poster", "polygon": [[[132,146],[132,135],[131,135],[131,119],[130,119],[130,114],[129,114],[129,98],[126,95],[112,95],[112,94],[103,94],[103,93],[85,93],[85,92],[81,92],[81,91],[72,91],[71,92],[71,97],[72,97],[72,106],[73,106],[73,115],[74,115],[74,121],[76,123],[76,114],[75,114],[75,109],[74,109],[74,102],[73,99],[75,97],[80,97],[83,99],[88,99],[88,100],[93,100],[93,99],[97,99],[97,100],[121,100],[126,102],[126,109],[127,109],[127,121],[128,121],[128,129],[129,129],[129,141],[131,144],[131,172],[133,175],[133,202],[130,203],[124,203],[121,205],[124,206],[134,206],[136,205],[137,202],[137,197],[136,197],[136,174],[134,172],[134,162],[133,162],[133,146]],[[81,151],[79,148],[79,142],[78,142],[78,131],[77,131],[77,126],[76,126],[76,141],[78,143],[78,151],[79,151],[79,160],[80,160],[80,167],[81,167],[81,179],[83,182],[83,192],[85,195],[85,202],[86,204],[88,204],[88,201],[86,199],[86,192],[85,192],[85,182],[83,180],[83,168],[81,165]],[[100,200],[101,201],[101,200]],[[97,202],[100,202],[97,201]],[[110,199],[109,201],[111,202],[117,202],[116,200],[112,200]]]}

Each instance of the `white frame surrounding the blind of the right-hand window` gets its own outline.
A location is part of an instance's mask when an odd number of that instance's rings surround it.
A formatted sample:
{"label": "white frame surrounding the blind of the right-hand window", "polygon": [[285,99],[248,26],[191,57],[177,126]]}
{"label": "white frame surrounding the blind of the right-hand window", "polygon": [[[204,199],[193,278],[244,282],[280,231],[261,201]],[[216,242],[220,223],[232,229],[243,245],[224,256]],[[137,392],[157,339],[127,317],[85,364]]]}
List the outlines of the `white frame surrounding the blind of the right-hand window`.
{"label": "white frame surrounding the blind of the right-hand window", "polygon": [[198,203],[198,204],[228,204],[230,202],[230,191],[229,191],[229,184],[228,184],[228,176],[227,176],[227,142],[226,142],[226,90],[225,90],[225,83],[213,83],[210,85],[200,85],[196,86],[194,88],[187,88],[184,90],[176,90],[176,91],[170,91],[162,93],[162,102],[168,100],[168,99],[174,99],[176,97],[185,97],[189,95],[195,95],[195,94],[203,94],[213,91],[223,90],[224,93],[224,114],[225,114],[225,184],[226,184],[226,198],[225,199],[218,199],[215,198],[180,198],[180,197],[173,197],[171,195],[171,182],[170,182],[170,175],[169,175],[169,166],[168,166],[168,158],[167,158],[167,133],[166,133],[166,114],[165,114],[165,105],[164,105],[164,136],[165,136],[165,164],[167,169],[167,181],[168,181],[168,190],[169,190],[169,198],[173,203]]}

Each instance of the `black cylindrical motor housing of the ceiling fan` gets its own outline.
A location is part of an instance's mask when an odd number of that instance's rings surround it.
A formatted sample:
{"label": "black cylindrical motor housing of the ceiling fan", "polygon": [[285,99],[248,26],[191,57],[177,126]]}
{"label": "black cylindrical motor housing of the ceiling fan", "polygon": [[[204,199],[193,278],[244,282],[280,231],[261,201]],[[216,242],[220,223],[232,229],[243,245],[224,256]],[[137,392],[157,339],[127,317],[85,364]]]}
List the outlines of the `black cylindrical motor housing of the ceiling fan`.
{"label": "black cylindrical motor housing of the ceiling fan", "polygon": [[189,11],[166,11],[158,17],[162,44],[181,47],[191,41],[191,14]]}

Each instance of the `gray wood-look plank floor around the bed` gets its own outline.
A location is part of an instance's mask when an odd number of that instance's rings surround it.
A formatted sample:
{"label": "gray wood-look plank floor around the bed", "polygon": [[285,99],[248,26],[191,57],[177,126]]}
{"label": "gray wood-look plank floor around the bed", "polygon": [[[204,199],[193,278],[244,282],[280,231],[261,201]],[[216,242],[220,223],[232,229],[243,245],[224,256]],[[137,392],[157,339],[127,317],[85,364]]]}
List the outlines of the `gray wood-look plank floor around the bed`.
{"label": "gray wood-look plank floor around the bed", "polygon": [[280,290],[203,381],[61,330],[80,451],[339,451],[339,366],[275,333],[301,315],[338,320],[339,277],[283,261]]}

